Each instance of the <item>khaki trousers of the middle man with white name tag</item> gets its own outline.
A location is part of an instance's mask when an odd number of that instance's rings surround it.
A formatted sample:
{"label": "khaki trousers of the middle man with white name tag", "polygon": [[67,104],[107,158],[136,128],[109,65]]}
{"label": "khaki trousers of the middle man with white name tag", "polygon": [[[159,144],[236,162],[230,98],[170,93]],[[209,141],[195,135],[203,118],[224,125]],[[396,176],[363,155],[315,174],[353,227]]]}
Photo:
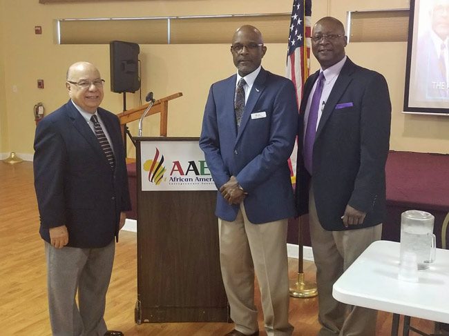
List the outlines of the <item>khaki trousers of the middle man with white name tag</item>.
{"label": "khaki trousers of the middle man with white name tag", "polygon": [[220,265],[236,330],[258,330],[254,272],[260,287],[267,335],[292,335],[288,322],[287,219],[252,224],[240,205],[235,221],[218,219]]}

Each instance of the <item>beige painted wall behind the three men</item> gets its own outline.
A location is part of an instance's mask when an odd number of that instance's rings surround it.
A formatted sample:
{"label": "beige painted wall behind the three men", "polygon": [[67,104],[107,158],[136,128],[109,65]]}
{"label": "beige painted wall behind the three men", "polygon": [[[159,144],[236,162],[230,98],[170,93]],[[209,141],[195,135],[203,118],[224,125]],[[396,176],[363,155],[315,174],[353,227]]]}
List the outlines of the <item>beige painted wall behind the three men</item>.
{"label": "beige painted wall behind the three men", "polygon": [[[43,102],[48,113],[68,99],[64,77],[70,63],[78,60],[95,63],[107,81],[106,88],[110,83],[108,46],[59,46],[53,42],[54,19],[290,12],[292,6],[292,0],[278,0],[276,8],[273,8],[272,0],[93,1],[56,5],[39,5],[37,0],[0,1],[3,7],[0,7],[3,16],[0,28],[5,46],[0,47],[0,152],[15,150],[22,153],[32,153],[35,130],[32,107],[35,103]],[[385,8],[408,8],[408,1],[314,0],[312,22],[329,14],[345,23],[347,10]],[[42,26],[43,34],[34,34],[36,25]],[[287,33],[288,27],[286,38]],[[140,47],[143,98],[150,90],[156,99],[183,92],[184,96],[171,101],[169,106],[169,136],[198,136],[210,84],[235,71],[229,45]],[[283,43],[269,44],[263,61],[265,68],[284,75],[285,50]],[[353,61],[378,70],[388,81],[393,103],[391,148],[448,153],[449,117],[401,113],[405,52],[406,43],[350,43],[347,46],[347,55]],[[317,68],[318,64],[312,59],[312,70]],[[44,90],[37,89],[37,79],[44,79]],[[12,92],[14,85],[18,92]],[[137,94],[127,94],[127,101],[128,108],[139,105]],[[121,112],[122,95],[106,90],[102,106]],[[144,135],[157,135],[158,117],[148,119],[144,124]],[[130,129],[137,134],[137,122],[132,123]],[[130,150],[128,155],[134,156],[134,152]]]}

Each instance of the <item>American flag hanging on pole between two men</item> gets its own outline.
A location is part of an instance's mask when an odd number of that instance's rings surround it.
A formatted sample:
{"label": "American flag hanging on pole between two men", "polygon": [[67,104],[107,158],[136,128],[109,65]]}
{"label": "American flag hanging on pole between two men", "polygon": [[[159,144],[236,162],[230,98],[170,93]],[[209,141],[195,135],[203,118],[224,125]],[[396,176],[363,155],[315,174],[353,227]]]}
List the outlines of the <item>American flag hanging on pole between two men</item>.
{"label": "American flag hanging on pole between two men", "polygon": [[[310,16],[312,15],[312,0],[294,0],[292,19],[289,28],[289,41],[287,53],[287,78],[292,79],[296,88],[296,99],[298,105],[303,97],[305,79],[310,70]],[[295,148],[290,157],[290,169],[292,181],[296,173],[296,152],[298,151],[296,141]]]}

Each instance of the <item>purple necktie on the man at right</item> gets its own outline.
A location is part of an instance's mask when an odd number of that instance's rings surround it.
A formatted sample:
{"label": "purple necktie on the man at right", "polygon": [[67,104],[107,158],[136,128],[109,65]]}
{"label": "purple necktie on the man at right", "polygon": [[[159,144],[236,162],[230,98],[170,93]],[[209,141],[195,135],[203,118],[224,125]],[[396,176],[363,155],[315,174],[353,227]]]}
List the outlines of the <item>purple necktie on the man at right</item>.
{"label": "purple necktie on the man at right", "polygon": [[305,130],[304,138],[304,166],[312,175],[312,153],[314,152],[314,142],[316,135],[316,121],[318,120],[318,109],[321,106],[321,93],[323,92],[323,82],[325,77],[323,71],[320,72],[316,82],[314,96],[312,103],[310,103],[309,118],[307,119],[307,128]]}

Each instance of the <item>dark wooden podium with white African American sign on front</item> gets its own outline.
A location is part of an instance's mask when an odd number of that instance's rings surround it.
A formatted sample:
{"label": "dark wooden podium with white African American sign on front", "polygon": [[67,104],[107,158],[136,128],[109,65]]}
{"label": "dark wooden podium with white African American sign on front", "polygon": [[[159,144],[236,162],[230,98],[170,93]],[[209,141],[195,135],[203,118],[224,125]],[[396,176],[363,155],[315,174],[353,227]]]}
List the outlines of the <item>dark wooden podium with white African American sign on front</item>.
{"label": "dark wooden podium with white African American sign on front", "polygon": [[[207,181],[209,189],[213,184],[202,161],[198,138],[134,139],[135,322],[229,322],[220,272],[218,221],[214,215],[216,190],[194,190],[198,188],[196,179]],[[183,149],[184,146],[189,147]],[[193,166],[196,172],[206,175],[195,175]]]}

